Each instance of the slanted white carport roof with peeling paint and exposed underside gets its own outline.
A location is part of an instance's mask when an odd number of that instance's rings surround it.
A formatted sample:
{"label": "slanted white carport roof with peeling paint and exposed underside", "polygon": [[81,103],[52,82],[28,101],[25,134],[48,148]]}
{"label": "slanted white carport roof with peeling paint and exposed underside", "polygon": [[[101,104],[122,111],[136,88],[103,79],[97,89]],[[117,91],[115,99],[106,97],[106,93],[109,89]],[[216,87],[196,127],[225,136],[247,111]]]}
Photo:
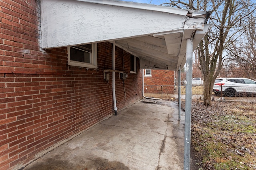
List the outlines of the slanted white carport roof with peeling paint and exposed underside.
{"label": "slanted white carport roof with peeling paint and exposed underside", "polygon": [[116,41],[140,58],[140,68],[178,70],[186,63],[186,39],[195,49],[208,16],[118,0],[41,0],[42,48]]}

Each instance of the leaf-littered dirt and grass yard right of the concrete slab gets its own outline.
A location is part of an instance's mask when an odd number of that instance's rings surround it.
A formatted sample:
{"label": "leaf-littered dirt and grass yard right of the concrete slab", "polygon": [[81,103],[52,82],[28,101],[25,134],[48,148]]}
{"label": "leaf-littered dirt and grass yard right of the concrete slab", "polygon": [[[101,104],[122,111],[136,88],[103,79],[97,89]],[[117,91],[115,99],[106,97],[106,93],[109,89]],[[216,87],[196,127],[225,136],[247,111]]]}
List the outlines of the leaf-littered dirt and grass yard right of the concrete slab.
{"label": "leaf-littered dirt and grass yard right of the concrete slab", "polygon": [[191,112],[191,170],[256,169],[255,103],[194,101]]}

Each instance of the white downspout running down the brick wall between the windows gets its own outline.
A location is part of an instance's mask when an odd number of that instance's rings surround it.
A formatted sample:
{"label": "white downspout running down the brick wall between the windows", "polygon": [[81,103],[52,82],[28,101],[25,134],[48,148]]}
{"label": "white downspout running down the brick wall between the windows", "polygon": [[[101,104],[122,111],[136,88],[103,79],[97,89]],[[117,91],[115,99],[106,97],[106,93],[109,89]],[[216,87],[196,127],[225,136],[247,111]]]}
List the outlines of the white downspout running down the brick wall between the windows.
{"label": "white downspout running down the brick wall between the windows", "polygon": [[[115,70],[115,52],[116,52],[116,41],[113,42],[112,49],[112,70]],[[113,102],[114,102],[114,115],[117,115],[117,107],[116,107],[116,80],[115,80],[115,72],[112,72],[112,91],[113,91]]]}

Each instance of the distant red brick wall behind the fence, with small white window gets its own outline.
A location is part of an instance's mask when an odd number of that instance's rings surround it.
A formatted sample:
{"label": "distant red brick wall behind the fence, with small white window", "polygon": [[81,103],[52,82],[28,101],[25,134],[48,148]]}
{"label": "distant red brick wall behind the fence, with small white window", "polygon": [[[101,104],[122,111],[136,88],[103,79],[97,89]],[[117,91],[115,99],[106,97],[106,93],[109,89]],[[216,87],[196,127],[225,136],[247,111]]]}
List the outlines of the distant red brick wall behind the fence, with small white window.
{"label": "distant red brick wall behind the fence, with small white window", "polygon": [[[145,71],[146,70],[144,70],[144,75]],[[151,70],[151,75],[152,76],[144,76],[144,93],[174,93],[174,71]]]}

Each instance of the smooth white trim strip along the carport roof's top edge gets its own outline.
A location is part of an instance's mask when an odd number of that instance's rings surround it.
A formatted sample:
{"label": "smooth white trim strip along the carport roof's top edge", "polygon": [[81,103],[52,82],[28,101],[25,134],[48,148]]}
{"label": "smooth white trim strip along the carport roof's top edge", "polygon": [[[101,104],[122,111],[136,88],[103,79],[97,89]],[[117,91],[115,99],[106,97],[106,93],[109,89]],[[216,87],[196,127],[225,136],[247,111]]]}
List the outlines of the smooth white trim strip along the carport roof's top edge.
{"label": "smooth white trim strip along the carport roof's top edge", "polygon": [[152,11],[159,11],[159,12],[167,12],[171,14],[178,14],[182,16],[186,16],[188,14],[187,10],[182,10],[178,8],[172,8],[168,6],[156,6],[151,4],[141,4],[136,2],[126,2],[120,0],[77,0],[82,2],[89,2],[95,4],[104,4],[104,5],[112,5],[112,6],[121,6],[126,8],[136,8],[141,10],[152,10]]}

